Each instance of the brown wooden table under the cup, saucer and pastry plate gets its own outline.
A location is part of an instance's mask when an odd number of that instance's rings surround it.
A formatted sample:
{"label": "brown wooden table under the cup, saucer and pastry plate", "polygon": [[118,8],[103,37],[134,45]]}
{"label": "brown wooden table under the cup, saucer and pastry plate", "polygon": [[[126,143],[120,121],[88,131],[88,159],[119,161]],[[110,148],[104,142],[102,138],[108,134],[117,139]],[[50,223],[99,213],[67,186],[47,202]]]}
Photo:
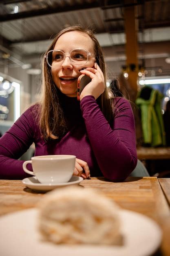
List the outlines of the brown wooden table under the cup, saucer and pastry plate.
{"label": "brown wooden table under the cup, saucer and pastry plate", "polygon": [[[103,177],[91,178],[81,182],[80,186],[98,189],[100,194],[111,198],[122,208],[156,220],[163,229],[163,241],[156,255],[170,255],[170,225],[169,229],[164,229],[170,222],[170,210],[157,177],[128,177],[119,183],[109,182]],[[43,196],[44,193],[26,188],[20,180],[0,180],[0,215],[35,207]]]}

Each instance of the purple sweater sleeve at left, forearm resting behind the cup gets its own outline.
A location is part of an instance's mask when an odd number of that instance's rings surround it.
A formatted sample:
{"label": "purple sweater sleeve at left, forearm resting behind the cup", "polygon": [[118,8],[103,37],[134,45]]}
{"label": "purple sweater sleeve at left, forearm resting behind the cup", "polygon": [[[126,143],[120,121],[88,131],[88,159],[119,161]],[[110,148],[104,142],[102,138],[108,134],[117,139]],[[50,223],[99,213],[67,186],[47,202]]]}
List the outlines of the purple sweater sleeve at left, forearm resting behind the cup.
{"label": "purple sweater sleeve at left, forearm resting behind the cup", "polygon": [[34,117],[26,110],[13,126],[0,138],[0,178],[23,178],[22,164],[18,160],[33,143]]}

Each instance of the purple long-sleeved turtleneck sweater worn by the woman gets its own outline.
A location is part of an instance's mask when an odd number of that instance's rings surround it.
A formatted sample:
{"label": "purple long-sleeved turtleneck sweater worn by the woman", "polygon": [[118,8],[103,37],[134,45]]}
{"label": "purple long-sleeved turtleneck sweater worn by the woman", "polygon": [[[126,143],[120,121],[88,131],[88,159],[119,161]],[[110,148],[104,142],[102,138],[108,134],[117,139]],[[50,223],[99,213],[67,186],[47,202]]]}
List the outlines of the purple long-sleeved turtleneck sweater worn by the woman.
{"label": "purple long-sleeved turtleneck sweater worn by the woman", "polygon": [[37,105],[27,109],[0,138],[0,178],[27,177],[18,160],[35,143],[37,155],[75,155],[88,163],[91,177],[104,176],[122,181],[137,164],[135,122],[130,103],[115,98],[115,113],[108,124],[93,96],[81,102],[62,96],[62,107],[68,121],[68,132],[58,140],[44,141],[35,121]]}

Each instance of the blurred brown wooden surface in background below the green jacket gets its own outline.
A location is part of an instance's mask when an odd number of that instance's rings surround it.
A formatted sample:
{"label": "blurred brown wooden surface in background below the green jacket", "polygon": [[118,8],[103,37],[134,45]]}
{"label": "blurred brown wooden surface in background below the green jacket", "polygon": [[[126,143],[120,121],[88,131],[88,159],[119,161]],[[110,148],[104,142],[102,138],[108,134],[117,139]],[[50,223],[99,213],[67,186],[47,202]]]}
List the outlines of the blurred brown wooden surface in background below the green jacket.
{"label": "blurred brown wooden surface in background below the green jacket", "polygon": [[137,148],[137,158],[140,160],[170,159],[170,147],[139,147]]}

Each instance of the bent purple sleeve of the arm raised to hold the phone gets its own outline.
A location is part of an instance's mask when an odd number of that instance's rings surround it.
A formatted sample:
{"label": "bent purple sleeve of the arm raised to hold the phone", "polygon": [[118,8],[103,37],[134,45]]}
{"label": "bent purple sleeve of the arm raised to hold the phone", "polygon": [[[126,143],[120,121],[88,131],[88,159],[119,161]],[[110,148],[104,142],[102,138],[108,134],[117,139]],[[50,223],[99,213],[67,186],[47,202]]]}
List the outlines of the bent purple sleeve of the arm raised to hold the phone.
{"label": "bent purple sleeve of the arm raised to hold the phone", "polygon": [[122,181],[137,164],[135,121],[130,103],[115,98],[115,113],[110,126],[93,96],[81,101],[88,138],[104,177]]}

